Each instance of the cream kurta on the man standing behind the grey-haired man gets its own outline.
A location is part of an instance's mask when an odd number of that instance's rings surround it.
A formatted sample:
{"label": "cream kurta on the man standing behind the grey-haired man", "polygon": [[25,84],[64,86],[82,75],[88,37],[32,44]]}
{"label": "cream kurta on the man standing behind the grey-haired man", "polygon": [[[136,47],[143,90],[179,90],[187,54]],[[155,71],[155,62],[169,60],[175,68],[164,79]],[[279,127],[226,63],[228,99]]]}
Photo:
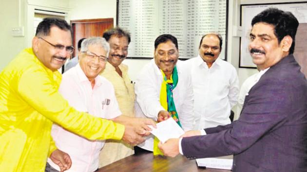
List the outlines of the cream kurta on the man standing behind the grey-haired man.
{"label": "cream kurta on the man standing behind the grey-haired man", "polygon": [[[120,64],[119,69],[122,71],[122,77],[110,63],[107,63],[101,75],[113,84],[119,109],[123,115],[134,117],[134,84],[131,83],[128,76],[128,66]],[[131,145],[123,141],[107,140],[99,155],[99,167],[133,154],[134,150]]]}

